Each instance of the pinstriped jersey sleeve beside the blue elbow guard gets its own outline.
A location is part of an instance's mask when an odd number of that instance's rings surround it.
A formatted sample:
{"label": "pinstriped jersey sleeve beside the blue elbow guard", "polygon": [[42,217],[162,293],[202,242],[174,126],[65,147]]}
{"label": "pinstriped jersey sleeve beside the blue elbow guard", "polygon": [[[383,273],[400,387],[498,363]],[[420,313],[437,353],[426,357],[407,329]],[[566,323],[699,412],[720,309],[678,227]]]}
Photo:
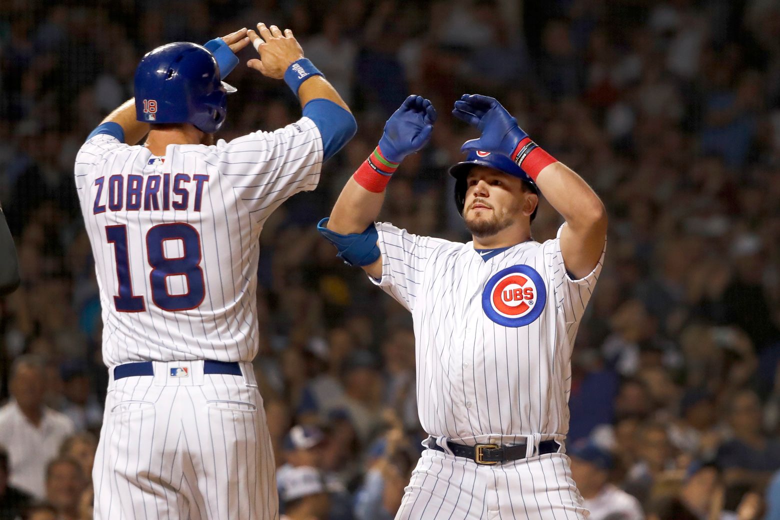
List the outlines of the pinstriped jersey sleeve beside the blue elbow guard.
{"label": "pinstriped jersey sleeve beside the blue elbow guard", "polygon": [[413,235],[386,222],[378,222],[376,227],[377,245],[382,255],[382,278],[368,278],[407,310],[413,311],[425,266],[434,250],[445,241]]}

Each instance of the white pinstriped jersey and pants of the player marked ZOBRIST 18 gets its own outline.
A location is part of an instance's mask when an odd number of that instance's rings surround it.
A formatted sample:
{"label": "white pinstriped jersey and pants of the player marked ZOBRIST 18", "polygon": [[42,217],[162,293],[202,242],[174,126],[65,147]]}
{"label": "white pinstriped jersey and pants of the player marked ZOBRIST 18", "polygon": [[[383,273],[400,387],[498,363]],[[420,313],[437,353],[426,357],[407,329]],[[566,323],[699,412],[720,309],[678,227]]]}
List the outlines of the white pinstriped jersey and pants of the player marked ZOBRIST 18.
{"label": "white pinstriped jersey and pants of the player marked ZOBRIST 18", "polygon": [[[321,135],[308,118],[212,147],[169,145],[164,158],[105,134],[84,143],[75,180],[100,289],[106,365],[189,360],[187,381],[194,381],[193,360],[254,359],[260,232],[280,204],[317,186],[321,163]],[[151,230],[165,225],[189,236],[154,235],[159,242],[151,243]],[[111,238],[109,229],[119,234]],[[198,258],[195,267],[176,264]],[[176,267],[161,272],[159,264]],[[165,274],[162,286],[153,284],[155,269]],[[183,296],[181,310],[159,304]],[[202,373],[198,384],[151,380],[128,377],[108,393],[95,518],[278,518],[257,388]]]}

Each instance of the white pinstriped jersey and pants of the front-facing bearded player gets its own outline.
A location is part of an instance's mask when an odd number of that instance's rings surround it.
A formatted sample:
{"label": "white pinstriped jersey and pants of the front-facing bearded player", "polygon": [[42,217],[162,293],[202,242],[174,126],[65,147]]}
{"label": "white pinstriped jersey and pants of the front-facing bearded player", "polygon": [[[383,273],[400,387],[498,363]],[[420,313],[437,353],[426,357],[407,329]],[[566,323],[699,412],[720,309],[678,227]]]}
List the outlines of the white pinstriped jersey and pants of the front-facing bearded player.
{"label": "white pinstriped jersey and pants of the front-facing bearded player", "polygon": [[[572,347],[604,253],[593,272],[572,280],[560,229],[555,239],[523,242],[488,260],[471,242],[413,235],[386,223],[377,230],[382,278],[372,281],[412,313],[424,430],[439,445],[445,438],[562,442],[569,430]],[[495,311],[503,294],[497,280],[517,273],[537,280],[527,295],[535,314],[502,321]],[[501,508],[493,511],[487,504],[496,496]],[[563,453],[488,467],[426,451],[398,518],[583,518],[580,501]]]}

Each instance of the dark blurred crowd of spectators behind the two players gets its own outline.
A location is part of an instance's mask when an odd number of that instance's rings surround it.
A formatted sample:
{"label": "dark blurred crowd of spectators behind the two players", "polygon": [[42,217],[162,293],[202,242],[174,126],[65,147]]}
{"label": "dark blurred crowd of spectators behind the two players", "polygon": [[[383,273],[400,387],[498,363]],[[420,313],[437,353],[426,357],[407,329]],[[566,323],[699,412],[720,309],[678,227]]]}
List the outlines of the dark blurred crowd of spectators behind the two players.
{"label": "dark blurred crowd of spectators behind the two players", "polygon": [[[780,4],[775,0],[5,0],[0,520],[91,518],[107,373],[73,161],[144,52],[291,28],[357,136],[261,235],[255,361],[289,518],[385,520],[420,453],[410,316],[314,230],[407,94],[438,108],[381,220],[466,241],[446,169],[498,97],[597,190],[608,256],[577,338],[567,451],[594,520],[780,518]],[[249,59],[253,50],[242,51]],[[227,140],[300,116],[239,66]],[[544,201],[534,239],[561,218]],[[7,399],[7,401],[6,401]]]}

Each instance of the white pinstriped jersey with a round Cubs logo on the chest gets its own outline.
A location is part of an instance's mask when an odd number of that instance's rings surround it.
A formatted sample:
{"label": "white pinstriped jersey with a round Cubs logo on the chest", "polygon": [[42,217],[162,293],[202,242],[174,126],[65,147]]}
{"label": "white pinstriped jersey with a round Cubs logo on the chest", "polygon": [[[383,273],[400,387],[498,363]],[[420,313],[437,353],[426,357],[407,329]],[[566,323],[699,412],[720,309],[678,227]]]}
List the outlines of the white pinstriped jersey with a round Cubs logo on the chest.
{"label": "white pinstriped jersey with a round Cubs logo on the chest", "polygon": [[[561,227],[562,229],[562,227]],[[462,444],[522,444],[569,429],[569,363],[604,253],[580,280],[555,239],[485,260],[473,243],[377,225],[382,277],[410,310],[420,423]],[[539,438],[539,437],[537,437]]]}

